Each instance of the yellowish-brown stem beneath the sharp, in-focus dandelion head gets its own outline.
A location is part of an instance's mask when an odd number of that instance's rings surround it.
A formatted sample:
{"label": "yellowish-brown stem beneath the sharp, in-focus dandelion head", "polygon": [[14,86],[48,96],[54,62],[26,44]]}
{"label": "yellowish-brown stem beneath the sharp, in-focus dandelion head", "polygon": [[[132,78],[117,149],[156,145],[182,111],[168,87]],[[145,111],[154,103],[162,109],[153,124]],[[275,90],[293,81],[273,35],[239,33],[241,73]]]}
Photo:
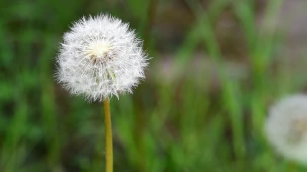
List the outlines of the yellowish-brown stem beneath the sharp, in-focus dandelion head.
{"label": "yellowish-brown stem beneath the sharp, in-focus dandelion head", "polygon": [[113,143],[112,143],[112,124],[110,113],[110,101],[104,101],[105,110],[105,129],[106,129],[106,172],[113,172]]}

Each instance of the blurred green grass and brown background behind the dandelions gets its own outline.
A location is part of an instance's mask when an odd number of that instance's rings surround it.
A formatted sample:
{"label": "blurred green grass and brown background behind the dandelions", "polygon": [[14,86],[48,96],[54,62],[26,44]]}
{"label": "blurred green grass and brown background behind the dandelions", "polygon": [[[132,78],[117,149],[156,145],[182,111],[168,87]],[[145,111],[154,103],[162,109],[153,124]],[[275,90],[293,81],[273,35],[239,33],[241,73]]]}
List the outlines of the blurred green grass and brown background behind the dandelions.
{"label": "blurred green grass and brown background behind the dandelions", "polygon": [[305,0],[0,1],[0,171],[104,171],[103,106],[54,81],[82,16],[129,22],[150,57],[111,100],[115,171],[305,171],[263,132],[268,108],[307,90]]}

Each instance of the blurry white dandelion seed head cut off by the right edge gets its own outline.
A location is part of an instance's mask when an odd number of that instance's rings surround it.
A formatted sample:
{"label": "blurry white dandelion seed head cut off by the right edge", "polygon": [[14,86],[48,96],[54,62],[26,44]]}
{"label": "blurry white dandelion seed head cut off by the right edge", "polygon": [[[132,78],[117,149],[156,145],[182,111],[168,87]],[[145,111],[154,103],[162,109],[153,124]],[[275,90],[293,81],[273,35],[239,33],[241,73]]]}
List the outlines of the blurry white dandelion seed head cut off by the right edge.
{"label": "blurry white dandelion seed head cut off by the right edge", "polygon": [[290,160],[307,162],[307,96],[291,96],[274,105],[265,129],[277,152]]}

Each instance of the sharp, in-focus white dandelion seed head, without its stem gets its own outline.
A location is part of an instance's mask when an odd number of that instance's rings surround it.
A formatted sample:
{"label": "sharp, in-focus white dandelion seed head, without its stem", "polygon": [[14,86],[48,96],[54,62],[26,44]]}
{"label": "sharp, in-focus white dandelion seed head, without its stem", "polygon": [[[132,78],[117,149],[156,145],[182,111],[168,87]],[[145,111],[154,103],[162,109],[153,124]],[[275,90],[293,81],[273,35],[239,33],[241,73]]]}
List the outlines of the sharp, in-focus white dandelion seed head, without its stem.
{"label": "sharp, in-focus white dandelion seed head, without its stem", "polygon": [[103,101],[132,93],[147,66],[147,54],[134,30],[109,15],[83,17],[65,33],[56,77],[74,95]]}

